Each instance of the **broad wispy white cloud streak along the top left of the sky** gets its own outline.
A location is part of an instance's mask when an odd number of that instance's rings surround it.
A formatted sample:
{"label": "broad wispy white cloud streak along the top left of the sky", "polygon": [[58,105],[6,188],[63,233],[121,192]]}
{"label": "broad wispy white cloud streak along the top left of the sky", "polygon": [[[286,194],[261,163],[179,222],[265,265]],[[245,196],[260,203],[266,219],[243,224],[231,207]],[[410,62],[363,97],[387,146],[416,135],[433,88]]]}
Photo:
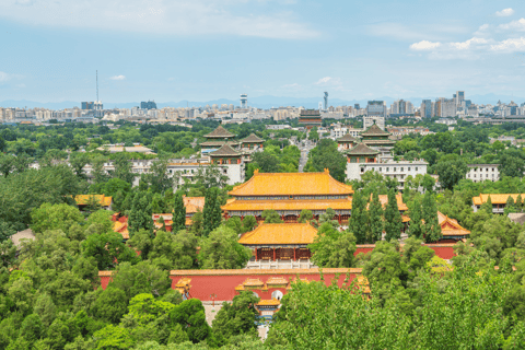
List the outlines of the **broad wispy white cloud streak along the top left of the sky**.
{"label": "broad wispy white cloud streak along the top left of the sky", "polygon": [[[287,8],[245,14],[245,0],[20,0],[0,1],[0,18],[31,25],[125,31],[176,36],[235,35],[303,39],[319,32]],[[277,10],[276,10],[277,9]]]}

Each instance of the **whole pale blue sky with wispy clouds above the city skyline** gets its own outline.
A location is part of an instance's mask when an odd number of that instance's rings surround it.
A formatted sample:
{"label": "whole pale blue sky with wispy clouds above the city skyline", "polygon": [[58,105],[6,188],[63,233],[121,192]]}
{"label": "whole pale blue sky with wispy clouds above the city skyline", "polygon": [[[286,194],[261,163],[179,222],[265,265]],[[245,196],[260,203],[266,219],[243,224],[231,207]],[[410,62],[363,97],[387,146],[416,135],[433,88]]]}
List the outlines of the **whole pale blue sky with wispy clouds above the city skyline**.
{"label": "whole pale blue sky with wispy clouds above the city skyline", "polygon": [[1,0],[0,45],[0,101],[525,97],[523,0]]}

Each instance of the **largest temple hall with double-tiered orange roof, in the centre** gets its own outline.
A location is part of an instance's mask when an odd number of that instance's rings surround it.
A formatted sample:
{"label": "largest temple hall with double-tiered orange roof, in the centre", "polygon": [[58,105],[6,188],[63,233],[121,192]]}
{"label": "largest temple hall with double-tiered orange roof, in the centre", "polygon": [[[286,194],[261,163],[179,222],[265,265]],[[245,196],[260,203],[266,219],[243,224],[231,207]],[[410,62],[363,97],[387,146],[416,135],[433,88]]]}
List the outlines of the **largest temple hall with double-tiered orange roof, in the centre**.
{"label": "largest temple hall with double-tiered orange roof, in the centre", "polygon": [[265,210],[275,210],[284,222],[298,222],[303,209],[311,210],[314,219],[328,208],[336,211],[335,220],[348,223],[351,214],[352,186],[339,183],[328,170],[323,173],[259,173],[246,183],[234,187],[226,205],[221,207],[224,217],[253,215],[264,221]]}

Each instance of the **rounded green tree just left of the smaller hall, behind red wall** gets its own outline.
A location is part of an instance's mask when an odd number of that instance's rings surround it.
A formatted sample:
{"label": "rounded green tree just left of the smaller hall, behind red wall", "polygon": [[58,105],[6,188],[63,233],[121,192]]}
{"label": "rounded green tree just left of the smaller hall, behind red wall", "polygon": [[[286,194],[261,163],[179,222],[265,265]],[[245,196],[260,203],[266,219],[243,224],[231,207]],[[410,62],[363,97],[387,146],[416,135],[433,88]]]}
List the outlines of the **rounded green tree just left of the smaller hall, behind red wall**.
{"label": "rounded green tree just left of the smaller hall, behind red wall", "polygon": [[202,269],[240,269],[250,256],[252,250],[237,243],[237,234],[222,225],[201,242],[198,259]]}

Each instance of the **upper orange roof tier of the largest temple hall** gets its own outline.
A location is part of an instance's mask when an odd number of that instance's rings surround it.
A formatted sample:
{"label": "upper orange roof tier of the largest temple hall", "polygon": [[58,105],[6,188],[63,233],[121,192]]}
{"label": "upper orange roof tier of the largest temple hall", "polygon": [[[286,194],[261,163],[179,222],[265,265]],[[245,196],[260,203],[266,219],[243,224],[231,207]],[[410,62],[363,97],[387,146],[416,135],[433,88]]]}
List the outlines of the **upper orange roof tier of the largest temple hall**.
{"label": "upper orange roof tier of the largest temple hall", "polygon": [[229,191],[232,196],[348,195],[352,186],[339,183],[328,170],[323,173],[259,173]]}

